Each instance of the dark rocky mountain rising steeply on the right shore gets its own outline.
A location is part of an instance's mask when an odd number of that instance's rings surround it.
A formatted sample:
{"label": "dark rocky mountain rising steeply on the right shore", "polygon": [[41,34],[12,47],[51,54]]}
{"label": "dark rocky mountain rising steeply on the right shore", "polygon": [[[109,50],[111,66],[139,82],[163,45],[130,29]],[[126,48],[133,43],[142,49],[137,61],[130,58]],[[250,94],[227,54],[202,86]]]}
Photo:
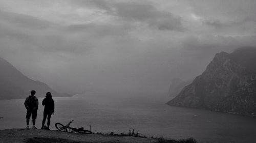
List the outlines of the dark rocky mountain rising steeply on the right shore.
{"label": "dark rocky mountain rising steeply on the right shore", "polygon": [[254,115],[256,48],[217,53],[203,74],[166,104]]}

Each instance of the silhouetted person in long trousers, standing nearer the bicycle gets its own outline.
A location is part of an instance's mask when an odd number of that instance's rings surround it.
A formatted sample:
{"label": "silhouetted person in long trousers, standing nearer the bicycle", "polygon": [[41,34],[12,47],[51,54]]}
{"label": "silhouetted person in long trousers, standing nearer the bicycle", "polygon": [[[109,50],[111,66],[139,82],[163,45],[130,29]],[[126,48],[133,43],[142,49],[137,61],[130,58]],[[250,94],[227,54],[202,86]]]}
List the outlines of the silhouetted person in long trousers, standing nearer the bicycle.
{"label": "silhouetted person in long trousers, standing nearer the bicycle", "polygon": [[54,101],[52,99],[52,94],[50,92],[46,93],[46,97],[42,100],[42,105],[45,106],[44,110],[44,119],[42,119],[42,127],[44,129],[46,118],[47,118],[47,127],[46,129],[49,130],[49,126],[51,123],[51,116],[54,114]]}

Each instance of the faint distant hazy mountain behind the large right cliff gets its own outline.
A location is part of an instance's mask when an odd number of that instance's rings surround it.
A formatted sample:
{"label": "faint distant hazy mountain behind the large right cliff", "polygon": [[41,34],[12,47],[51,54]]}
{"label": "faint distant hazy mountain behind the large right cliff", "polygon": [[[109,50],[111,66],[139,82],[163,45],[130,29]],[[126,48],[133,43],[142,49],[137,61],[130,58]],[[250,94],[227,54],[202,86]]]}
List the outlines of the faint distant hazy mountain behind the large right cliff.
{"label": "faint distant hazy mountain behind the large right cliff", "polygon": [[170,97],[177,96],[180,93],[180,91],[189,83],[191,83],[191,81],[184,81],[184,80],[181,80],[180,78],[174,78],[170,83],[168,95]]}

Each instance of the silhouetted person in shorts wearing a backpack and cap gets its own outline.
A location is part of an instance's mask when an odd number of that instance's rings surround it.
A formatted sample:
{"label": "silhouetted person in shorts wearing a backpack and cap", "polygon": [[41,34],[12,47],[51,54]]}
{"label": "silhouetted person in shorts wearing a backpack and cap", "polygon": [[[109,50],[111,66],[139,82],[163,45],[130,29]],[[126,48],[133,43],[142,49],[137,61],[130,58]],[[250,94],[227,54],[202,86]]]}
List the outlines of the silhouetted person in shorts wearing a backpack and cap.
{"label": "silhouetted person in shorts wearing a backpack and cap", "polygon": [[32,115],[32,122],[33,122],[33,129],[36,129],[35,127],[35,119],[37,116],[37,109],[38,109],[38,99],[35,97],[35,91],[32,90],[30,92],[30,96],[26,98],[24,103],[26,109],[27,109],[27,129],[29,129],[29,119]]}

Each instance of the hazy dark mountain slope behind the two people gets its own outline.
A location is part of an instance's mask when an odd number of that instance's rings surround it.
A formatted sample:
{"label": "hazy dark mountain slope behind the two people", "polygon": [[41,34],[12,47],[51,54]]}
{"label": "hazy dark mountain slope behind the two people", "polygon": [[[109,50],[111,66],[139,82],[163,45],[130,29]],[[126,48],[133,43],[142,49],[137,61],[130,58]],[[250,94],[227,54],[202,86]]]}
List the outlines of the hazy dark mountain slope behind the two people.
{"label": "hazy dark mountain slope behind the two people", "polygon": [[57,93],[46,83],[28,78],[3,58],[0,58],[0,67],[0,100],[26,98],[31,90],[36,91],[37,97],[45,97],[47,92],[53,96],[68,96]]}

